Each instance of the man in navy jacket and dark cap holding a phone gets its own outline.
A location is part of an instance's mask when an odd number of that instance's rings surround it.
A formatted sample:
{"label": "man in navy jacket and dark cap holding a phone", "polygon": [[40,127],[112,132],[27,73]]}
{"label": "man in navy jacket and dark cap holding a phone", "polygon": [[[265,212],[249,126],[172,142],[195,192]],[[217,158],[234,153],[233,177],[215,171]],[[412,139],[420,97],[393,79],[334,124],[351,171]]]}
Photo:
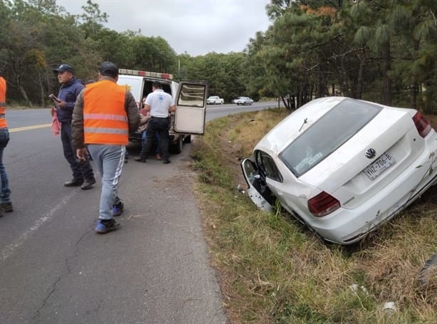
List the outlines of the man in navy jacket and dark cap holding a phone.
{"label": "man in navy jacket and dark cap holding a phone", "polygon": [[77,160],[71,138],[71,121],[76,98],[85,85],[74,75],[73,67],[68,64],[61,64],[53,70],[58,75],[60,89],[58,95],[51,95],[56,106],[58,121],[60,122],[60,140],[62,141],[65,160],[70,164],[73,172],[73,179],[64,183],[65,187],[79,187],[86,190],[91,189],[95,184],[93,167],[90,161]]}

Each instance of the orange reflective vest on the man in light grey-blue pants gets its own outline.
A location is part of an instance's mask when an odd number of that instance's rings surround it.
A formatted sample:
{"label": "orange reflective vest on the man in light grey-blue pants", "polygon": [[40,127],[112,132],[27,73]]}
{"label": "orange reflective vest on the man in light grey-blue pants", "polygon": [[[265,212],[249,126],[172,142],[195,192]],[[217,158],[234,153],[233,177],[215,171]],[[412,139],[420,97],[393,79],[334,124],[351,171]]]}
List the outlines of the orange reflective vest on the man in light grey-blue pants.
{"label": "orange reflective vest on the man in light grey-blue pants", "polygon": [[127,145],[126,88],[111,80],[86,86],[83,97],[85,144]]}

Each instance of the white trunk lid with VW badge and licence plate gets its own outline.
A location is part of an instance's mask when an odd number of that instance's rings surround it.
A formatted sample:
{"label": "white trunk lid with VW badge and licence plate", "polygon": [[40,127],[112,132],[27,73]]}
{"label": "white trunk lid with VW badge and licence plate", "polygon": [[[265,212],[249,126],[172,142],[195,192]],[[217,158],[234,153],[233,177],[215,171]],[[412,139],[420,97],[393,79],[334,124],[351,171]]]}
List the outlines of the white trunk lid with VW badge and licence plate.
{"label": "white trunk lid with VW badge and licence plate", "polygon": [[423,147],[409,110],[385,108],[299,179],[354,208],[409,167]]}

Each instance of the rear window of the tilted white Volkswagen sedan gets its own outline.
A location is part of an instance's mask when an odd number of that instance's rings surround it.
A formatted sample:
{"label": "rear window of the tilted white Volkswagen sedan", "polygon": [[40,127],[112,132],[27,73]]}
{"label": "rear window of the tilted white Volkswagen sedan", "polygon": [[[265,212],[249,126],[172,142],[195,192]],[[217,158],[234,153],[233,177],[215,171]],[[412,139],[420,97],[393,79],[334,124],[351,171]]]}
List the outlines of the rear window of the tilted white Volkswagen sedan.
{"label": "rear window of the tilted white Volkswagen sedan", "polygon": [[291,142],[280,153],[280,160],[300,177],[359,132],[381,109],[372,103],[343,100]]}

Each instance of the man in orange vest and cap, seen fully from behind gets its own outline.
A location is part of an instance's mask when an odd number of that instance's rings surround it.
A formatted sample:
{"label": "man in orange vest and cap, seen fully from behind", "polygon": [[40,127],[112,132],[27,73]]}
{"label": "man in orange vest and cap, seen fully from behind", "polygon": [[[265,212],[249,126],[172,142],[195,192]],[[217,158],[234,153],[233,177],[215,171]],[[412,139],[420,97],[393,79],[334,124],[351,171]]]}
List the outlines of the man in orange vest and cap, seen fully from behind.
{"label": "man in orange vest and cap, seen fully from behind", "polygon": [[120,228],[113,216],[120,216],[124,204],[117,194],[118,182],[125,162],[129,132],[139,125],[139,112],[134,96],[125,86],[117,85],[118,68],[103,62],[98,82],[86,85],[73,110],[73,147],[80,160],[85,160],[87,147],[102,176],[99,221],[95,231],[105,234]]}

